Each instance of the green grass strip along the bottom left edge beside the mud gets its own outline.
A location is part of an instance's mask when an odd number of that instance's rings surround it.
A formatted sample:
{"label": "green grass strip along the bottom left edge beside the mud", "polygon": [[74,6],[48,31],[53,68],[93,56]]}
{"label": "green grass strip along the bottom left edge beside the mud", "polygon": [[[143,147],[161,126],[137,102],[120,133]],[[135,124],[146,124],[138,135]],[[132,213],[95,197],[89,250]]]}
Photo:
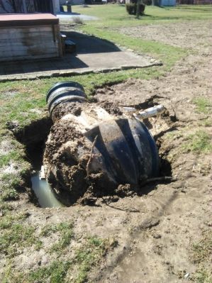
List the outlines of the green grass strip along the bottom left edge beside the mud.
{"label": "green grass strip along the bottom left edge beside the mud", "polygon": [[[56,231],[62,231],[63,225],[48,226],[43,229],[42,235],[48,236]],[[57,228],[55,228],[57,227]],[[65,227],[67,227],[65,225]],[[66,229],[66,228],[65,228]],[[4,272],[4,283],[64,283],[70,282],[67,273],[72,274],[72,281],[74,283],[84,283],[89,281],[89,272],[95,266],[98,266],[108,251],[109,248],[114,248],[114,243],[109,243],[106,239],[101,239],[92,236],[84,239],[85,242],[75,250],[74,256],[69,256],[64,259],[64,256],[57,260],[52,260],[48,265],[38,267],[32,271],[18,271],[12,272],[11,263],[7,265]],[[72,272],[74,267],[74,272]],[[77,267],[77,269],[76,269]]]}

